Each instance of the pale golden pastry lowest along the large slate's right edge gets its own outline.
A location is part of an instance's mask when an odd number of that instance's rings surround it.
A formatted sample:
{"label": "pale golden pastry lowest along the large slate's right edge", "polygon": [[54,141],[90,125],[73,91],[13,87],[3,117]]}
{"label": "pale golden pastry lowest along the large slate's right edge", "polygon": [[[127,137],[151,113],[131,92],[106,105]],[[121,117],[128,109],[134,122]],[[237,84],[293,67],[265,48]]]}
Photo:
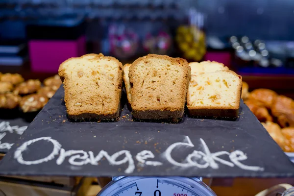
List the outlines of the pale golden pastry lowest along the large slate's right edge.
{"label": "pale golden pastry lowest along the large slate's right edge", "polygon": [[285,150],[285,145],[289,145],[289,142],[286,140],[282,134],[281,128],[277,123],[266,122],[262,125],[267,129],[272,139],[283,149]]}

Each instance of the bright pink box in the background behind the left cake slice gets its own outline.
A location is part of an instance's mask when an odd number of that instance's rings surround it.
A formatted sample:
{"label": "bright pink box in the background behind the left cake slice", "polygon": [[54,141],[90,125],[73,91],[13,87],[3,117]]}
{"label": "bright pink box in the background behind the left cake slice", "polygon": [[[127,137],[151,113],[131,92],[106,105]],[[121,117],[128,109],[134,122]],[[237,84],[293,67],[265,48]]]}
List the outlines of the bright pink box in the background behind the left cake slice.
{"label": "bright pink box in the background behind the left cake slice", "polygon": [[86,54],[86,39],[30,40],[28,49],[32,72],[57,73],[63,61]]}

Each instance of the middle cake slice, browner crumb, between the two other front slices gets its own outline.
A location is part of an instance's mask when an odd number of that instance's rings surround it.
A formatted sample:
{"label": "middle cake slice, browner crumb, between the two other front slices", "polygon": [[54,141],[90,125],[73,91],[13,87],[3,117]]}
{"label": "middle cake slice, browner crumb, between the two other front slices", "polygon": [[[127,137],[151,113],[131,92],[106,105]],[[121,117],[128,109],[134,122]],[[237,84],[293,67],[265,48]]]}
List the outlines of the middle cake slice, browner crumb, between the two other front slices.
{"label": "middle cake slice, browner crumb, between the two other front slices", "polygon": [[186,60],[148,54],[130,65],[128,76],[131,87],[129,102],[136,119],[183,116],[190,78]]}

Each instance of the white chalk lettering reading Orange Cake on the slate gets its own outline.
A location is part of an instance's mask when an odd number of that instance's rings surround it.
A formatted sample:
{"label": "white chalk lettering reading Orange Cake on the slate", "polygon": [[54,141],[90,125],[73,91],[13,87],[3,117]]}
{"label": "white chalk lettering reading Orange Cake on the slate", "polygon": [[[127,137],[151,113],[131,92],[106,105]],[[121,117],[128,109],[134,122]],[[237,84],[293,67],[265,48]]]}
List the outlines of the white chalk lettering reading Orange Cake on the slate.
{"label": "white chalk lettering reading Orange Cake on the slate", "polygon": [[[5,136],[5,133],[0,134],[0,139]],[[34,161],[25,161],[23,158],[23,152],[27,150],[27,147],[37,141],[47,141],[53,144],[52,152],[45,158],[34,160]],[[0,147],[8,147],[7,144],[0,143]],[[184,148],[183,148],[184,147]],[[231,153],[227,151],[219,151],[219,152],[211,152],[209,147],[206,145],[203,139],[200,139],[200,149],[201,150],[194,150],[190,153],[186,159],[180,163],[174,160],[172,157],[173,150],[179,150],[181,153],[184,152],[187,147],[192,148],[195,147],[194,144],[191,142],[188,136],[185,137],[184,142],[176,142],[172,144],[170,147],[166,149],[163,153],[163,158],[165,158],[170,164],[173,166],[181,167],[181,168],[188,168],[188,167],[196,167],[200,169],[204,168],[212,168],[212,169],[219,169],[220,164],[228,166],[228,167],[239,167],[243,170],[249,171],[264,171],[264,168],[258,166],[247,166],[241,161],[245,161],[247,159],[246,154],[241,150],[236,150]],[[135,164],[131,152],[128,150],[121,150],[112,155],[109,155],[107,151],[100,150],[99,153],[95,156],[94,152],[89,151],[86,152],[84,150],[65,150],[61,148],[61,145],[56,141],[51,139],[51,137],[42,137],[38,139],[33,139],[30,141],[25,142],[22,146],[18,147],[14,153],[14,158],[20,164],[24,165],[34,165],[34,164],[41,164],[43,162],[50,161],[58,155],[56,159],[56,164],[61,165],[64,163],[65,159],[68,157],[68,163],[73,166],[83,166],[86,164],[91,165],[98,165],[99,161],[102,161],[102,158],[105,157],[110,165],[119,166],[122,164],[128,164],[127,168],[124,170],[125,173],[132,173],[135,170]],[[230,161],[224,160],[220,158],[220,156],[225,155],[229,158]],[[120,156],[124,156],[123,159],[119,159]],[[139,165],[147,165],[147,166],[161,166],[163,165],[161,162],[158,161],[150,161],[147,159],[154,159],[155,156],[150,150],[142,150],[141,152],[137,153],[136,160],[139,162]]]}

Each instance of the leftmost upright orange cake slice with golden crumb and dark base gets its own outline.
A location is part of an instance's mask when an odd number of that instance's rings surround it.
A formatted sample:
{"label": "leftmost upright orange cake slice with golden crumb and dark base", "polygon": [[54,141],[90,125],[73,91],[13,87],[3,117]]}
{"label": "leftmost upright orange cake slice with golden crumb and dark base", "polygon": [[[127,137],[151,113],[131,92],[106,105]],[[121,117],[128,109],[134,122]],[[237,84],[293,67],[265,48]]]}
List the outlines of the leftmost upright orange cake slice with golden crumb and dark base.
{"label": "leftmost upright orange cake slice with golden crumb and dark base", "polygon": [[67,113],[73,120],[114,120],[119,117],[123,65],[114,57],[86,54],[63,62]]}

